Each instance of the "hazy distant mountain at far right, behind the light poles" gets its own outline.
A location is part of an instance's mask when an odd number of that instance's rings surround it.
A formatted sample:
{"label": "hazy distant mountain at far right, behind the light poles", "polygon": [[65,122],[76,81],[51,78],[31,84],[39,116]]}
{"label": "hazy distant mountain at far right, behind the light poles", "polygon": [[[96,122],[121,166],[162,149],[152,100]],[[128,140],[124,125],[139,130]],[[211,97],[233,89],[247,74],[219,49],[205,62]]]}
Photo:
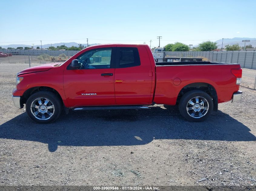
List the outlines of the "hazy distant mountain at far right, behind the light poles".
{"label": "hazy distant mountain at far right, behind the light poles", "polygon": [[[238,43],[239,46],[244,46],[244,42],[242,42],[242,40],[251,40],[251,42],[246,43],[246,45],[251,44],[253,47],[256,47],[256,38],[239,38],[239,37],[235,37],[235,38],[224,38],[223,39],[223,48],[225,48],[226,45],[233,45]],[[221,44],[222,44],[222,39],[220,40],[216,40],[215,41],[217,43],[218,48],[221,48]]]}

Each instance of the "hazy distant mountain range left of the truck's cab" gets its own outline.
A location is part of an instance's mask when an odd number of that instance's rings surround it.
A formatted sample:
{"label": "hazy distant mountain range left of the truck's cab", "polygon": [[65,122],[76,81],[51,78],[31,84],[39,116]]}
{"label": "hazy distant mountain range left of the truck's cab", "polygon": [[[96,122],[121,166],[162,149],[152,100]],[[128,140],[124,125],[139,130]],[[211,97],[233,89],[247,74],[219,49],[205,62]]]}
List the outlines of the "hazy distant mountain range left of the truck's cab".
{"label": "hazy distant mountain range left of the truck's cab", "polygon": [[[54,43],[54,44],[44,44],[42,45],[42,48],[48,48],[49,46],[54,46],[54,47],[57,47],[57,46],[61,46],[61,45],[64,45],[67,46],[67,47],[71,47],[71,46],[78,46],[78,43],[75,43],[75,42],[71,42],[71,43]],[[85,47],[87,47],[87,43],[86,44],[82,44],[84,45]],[[97,44],[88,44],[89,46],[92,46],[92,45],[97,45]],[[2,48],[8,48],[8,47],[12,47],[12,48],[17,48],[17,47],[31,47],[32,45],[26,45],[26,44],[9,44],[9,45],[0,45],[2,46]],[[41,44],[40,45],[34,45],[34,48],[36,48],[37,46],[39,46],[41,48]]]}

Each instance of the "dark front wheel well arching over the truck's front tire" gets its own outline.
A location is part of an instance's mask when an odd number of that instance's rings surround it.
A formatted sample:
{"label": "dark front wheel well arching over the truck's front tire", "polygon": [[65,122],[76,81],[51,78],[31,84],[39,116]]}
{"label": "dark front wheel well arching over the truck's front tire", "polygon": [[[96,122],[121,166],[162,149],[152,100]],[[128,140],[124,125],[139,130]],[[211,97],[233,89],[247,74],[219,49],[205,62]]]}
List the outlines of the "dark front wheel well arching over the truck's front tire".
{"label": "dark front wheel well arching over the truck's front tire", "polygon": [[[29,88],[28,90],[26,90],[24,92],[24,94],[22,95],[22,104],[25,104],[28,100],[28,98],[38,92],[38,91],[50,91],[50,92],[53,92],[54,94],[56,94],[58,96],[58,98],[62,101],[62,97],[60,96],[60,94],[58,93],[58,91],[56,91],[55,89],[53,88],[50,88],[50,87],[47,87],[47,86],[38,86],[38,87],[33,87],[33,88]],[[62,102],[63,103],[63,102]]]}

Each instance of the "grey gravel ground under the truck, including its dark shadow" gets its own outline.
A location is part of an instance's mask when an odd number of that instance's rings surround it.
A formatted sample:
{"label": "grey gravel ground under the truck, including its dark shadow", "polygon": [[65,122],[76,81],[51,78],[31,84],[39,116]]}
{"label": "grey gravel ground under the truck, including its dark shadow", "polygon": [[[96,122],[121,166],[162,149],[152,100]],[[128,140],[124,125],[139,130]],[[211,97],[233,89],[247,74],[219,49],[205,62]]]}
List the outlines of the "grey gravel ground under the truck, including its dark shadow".
{"label": "grey gravel ground under the truck, including its dark shadow", "polygon": [[14,107],[15,75],[2,72],[0,87],[0,186],[256,185],[255,90],[241,87],[240,102],[201,123],[155,105],[71,111],[42,125]]}

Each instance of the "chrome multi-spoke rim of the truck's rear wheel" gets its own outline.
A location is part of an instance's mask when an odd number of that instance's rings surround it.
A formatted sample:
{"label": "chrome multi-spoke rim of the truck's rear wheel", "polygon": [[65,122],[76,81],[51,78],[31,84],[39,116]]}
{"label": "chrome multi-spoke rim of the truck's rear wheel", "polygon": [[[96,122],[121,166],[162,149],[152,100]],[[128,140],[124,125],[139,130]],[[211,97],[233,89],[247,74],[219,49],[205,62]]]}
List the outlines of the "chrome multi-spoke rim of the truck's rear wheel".
{"label": "chrome multi-spoke rim of the truck's rear wheel", "polygon": [[209,103],[204,97],[193,97],[187,103],[187,113],[193,118],[201,118],[206,115],[209,110]]}

